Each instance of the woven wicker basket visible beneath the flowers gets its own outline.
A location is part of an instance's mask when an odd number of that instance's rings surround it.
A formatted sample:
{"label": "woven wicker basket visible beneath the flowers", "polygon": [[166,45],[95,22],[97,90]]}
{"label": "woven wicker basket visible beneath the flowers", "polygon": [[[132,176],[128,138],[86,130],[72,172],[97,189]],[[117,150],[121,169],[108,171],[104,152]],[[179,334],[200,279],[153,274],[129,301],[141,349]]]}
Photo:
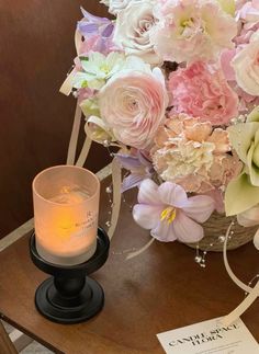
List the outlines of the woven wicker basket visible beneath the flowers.
{"label": "woven wicker basket visible beneath the flowers", "polygon": [[[199,243],[185,243],[191,248],[199,245],[200,250],[203,251],[223,251],[223,241],[218,239],[221,236],[225,236],[228,226],[230,225],[233,217],[225,217],[221,214],[213,213],[210,219],[202,226],[204,228],[205,237]],[[244,227],[237,221],[232,227],[232,237],[228,239],[227,249],[235,250],[238,247],[248,243],[252,240],[258,226]]]}

